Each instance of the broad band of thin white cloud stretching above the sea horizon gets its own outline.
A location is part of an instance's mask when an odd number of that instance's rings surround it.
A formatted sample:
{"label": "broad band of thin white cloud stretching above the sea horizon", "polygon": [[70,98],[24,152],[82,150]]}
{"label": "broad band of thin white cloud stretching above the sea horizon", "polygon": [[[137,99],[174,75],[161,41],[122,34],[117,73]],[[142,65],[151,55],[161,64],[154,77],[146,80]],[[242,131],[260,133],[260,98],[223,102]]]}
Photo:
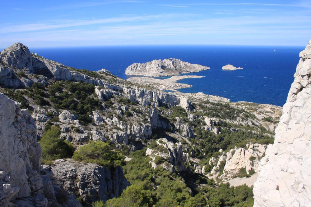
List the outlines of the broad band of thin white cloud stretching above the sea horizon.
{"label": "broad band of thin white cloud stretching above the sea horizon", "polygon": [[[240,16],[225,18],[206,18],[200,20],[183,21],[152,21],[145,24],[112,24],[109,26],[96,27],[94,29],[62,29],[55,31],[36,31],[28,33],[9,34],[5,37],[7,41],[19,39],[21,42],[41,41],[65,42],[70,44],[81,44],[82,40],[89,43],[97,42],[102,44],[154,44],[159,39],[165,42],[176,43],[181,39],[183,43],[189,41],[187,37],[192,37],[191,43],[230,43],[233,38],[244,39],[281,39],[302,37],[311,34],[311,25],[308,25],[309,16],[278,16],[259,18],[256,16]],[[286,25],[279,23],[287,22]],[[300,25],[300,26],[299,26]],[[304,25],[304,26],[301,26]],[[216,35],[216,37],[215,37]],[[228,36],[229,35],[229,36]],[[165,38],[162,38],[165,37]],[[176,38],[178,37],[178,38]],[[214,37],[209,40],[208,37]],[[228,38],[230,37],[230,38]],[[185,40],[186,38],[186,40]],[[222,39],[220,39],[222,38]],[[148,40],[148,41],[145,41]],[[246,40],[245,40],[246,41]],[[249,44],[249,42],[236,42],[237,44]],[[251,41],[251,40],[249,40]],[[0,40],[1,43],[1,40]],[[232,43],[231,43],[232,44]]]}

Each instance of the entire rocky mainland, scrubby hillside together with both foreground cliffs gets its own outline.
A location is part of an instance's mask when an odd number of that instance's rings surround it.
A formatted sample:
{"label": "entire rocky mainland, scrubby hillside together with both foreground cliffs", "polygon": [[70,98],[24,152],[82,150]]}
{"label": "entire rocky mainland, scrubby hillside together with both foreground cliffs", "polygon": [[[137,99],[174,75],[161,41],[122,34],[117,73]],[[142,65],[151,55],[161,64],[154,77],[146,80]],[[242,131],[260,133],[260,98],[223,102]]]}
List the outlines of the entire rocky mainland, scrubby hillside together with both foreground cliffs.
{"label": "entire rocky mainland, scrubby hillside together with both foreground cliffs", "polygon": [[310,54],[311,41],[282,109],[166,93],[15,43],[0,53],[0,205],[309,206]]}

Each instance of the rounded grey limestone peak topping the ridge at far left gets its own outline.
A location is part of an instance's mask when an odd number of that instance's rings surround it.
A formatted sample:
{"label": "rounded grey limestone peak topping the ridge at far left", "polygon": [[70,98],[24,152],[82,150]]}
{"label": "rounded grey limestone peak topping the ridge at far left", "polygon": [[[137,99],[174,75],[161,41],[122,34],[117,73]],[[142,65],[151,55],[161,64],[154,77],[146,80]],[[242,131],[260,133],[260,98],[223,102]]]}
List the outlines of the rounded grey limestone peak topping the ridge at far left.
{"label": "rounded grey limestone peak topping the ridge at far left", "polygon": [[1,60],[6,65],[23,69],[29,69],[29,72],[35,72],[32,66],[32,56],[27,46],[22,43],[14,43],[12,46],[4,49],[0,53]]}

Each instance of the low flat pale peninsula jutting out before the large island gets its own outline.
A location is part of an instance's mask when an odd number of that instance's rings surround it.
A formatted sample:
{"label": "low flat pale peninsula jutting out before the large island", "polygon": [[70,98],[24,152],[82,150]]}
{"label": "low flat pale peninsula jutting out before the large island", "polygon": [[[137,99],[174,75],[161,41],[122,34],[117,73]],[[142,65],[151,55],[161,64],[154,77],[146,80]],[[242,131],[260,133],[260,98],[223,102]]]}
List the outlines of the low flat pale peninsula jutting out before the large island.
{"label": "low flat pale peninsula jutting out before the large island", "polygon": [[174,75],[168,79],[155,79],[149,77],[131,77],[127,79],[132,83],[138,83],[143,85],[150,85],[154,88],[159,90],[172,90],[175,91],[176,89],[180,88],[191,88],[192,85],[186,83],[178,83],[177,81],[187,78],[203,78],[204,76],[198,75]]}

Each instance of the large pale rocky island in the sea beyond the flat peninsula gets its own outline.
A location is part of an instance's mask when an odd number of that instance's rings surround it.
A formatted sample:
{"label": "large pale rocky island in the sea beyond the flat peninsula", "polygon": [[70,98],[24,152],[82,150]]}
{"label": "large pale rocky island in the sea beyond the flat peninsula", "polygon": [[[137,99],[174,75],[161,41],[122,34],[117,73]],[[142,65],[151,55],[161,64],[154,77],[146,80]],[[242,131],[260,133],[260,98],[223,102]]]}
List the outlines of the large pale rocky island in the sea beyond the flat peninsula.
{"label": "large pale rocky island in the sea beyond the flat peninsula", "polygon": [[125,74],[160,77],[193,73],[208,69],[210,68],[203,65],[191,64],[179,59],[169,58],[153,60],[146,63],[134,63],[126,68]]}

